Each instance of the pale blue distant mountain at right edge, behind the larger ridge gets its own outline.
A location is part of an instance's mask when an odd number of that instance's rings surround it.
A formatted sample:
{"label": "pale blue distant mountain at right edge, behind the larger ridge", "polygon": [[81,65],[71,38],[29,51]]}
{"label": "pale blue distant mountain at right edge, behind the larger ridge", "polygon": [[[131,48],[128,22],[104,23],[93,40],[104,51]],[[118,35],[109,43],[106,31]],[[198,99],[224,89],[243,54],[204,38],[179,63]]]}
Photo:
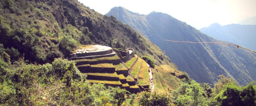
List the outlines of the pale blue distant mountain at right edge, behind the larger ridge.
{"label": "pale blue distant mountain at right edge, behind the larger ridge", "polygon": [[221,26],[217,23],[200,29],[201,32],[218,40],[225,40],[256,51],[256,25],[230,24]]}

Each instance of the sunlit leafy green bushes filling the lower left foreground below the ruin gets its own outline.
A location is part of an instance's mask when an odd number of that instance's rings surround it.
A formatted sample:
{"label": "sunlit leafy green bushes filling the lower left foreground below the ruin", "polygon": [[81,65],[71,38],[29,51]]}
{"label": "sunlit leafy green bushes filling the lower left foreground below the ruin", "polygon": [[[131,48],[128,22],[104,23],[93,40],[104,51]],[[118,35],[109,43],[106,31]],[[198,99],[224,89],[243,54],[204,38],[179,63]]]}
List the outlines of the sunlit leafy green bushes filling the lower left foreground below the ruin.
{"label": "sunlit leafy green bushes filling the lower left foreground below the ruin", "polygon": [[[103,84],[90,85],[73,61],[55,59],[52,64],[17,65],[0,59],[0,105],[131,105],[128,92]],[[127,103],[127,104],[126,104]]]}

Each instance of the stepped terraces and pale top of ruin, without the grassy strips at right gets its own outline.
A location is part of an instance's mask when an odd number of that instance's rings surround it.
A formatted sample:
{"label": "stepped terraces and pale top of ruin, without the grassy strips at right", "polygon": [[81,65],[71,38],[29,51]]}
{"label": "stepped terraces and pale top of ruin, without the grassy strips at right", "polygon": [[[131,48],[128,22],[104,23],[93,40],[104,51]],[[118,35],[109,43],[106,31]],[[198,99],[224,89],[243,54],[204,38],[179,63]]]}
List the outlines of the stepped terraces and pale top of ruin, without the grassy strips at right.
{"label": "stepped terraces and pale top of ruin, without the grassy strips at right", "polygon": [[[103,83],[106,86],[119,86],[131,93],[140,92],[137,80],[129,72],[124,62],[135,56],[134,49],[124,51],[98,44],[84,45],[70,54],[82,74],[90,83]],[[133,63],[133,65],[136,61]],[[132,67],[133,67],[132,65]],[[131,68],[132,68],[131,67]],[[146,90],[146,89],[144,89]]]}

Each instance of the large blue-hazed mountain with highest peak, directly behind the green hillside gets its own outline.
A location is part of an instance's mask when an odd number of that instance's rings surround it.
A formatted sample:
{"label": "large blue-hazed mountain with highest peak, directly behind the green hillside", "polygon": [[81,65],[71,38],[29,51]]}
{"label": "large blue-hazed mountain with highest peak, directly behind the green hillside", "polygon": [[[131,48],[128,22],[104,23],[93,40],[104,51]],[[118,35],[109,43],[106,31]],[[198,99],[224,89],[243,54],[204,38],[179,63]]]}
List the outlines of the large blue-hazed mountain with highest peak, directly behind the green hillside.
{"label": "large blue-hazed mountain with highest peak, directly behind the green hillside", "polygon": [[179,70],[186,71],[198,82],[214,83],[222,74],[236,79],[240,85],[256,80],[256,54],[228,45],[164,41],[229,43],[209,37],[168,14],[152,12],[140,15],[123,7],[114,7],[106,15],[115,16],[148,37]]}

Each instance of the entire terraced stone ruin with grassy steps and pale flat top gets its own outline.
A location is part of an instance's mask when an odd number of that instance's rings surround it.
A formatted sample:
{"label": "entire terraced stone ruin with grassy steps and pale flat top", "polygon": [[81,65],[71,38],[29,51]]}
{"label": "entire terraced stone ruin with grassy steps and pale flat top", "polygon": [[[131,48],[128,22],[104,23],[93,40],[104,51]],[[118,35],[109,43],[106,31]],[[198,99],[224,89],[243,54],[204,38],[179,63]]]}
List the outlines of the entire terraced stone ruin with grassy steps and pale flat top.
{"label": "entire terraced stone ruin with grassy steps and pale flat top", "polygon": [[90,83],[121,87],[131,93],[150,91],[147,63],[134,49],[112,49],[98,44],[83,45],[70,54],[82,74]]}

